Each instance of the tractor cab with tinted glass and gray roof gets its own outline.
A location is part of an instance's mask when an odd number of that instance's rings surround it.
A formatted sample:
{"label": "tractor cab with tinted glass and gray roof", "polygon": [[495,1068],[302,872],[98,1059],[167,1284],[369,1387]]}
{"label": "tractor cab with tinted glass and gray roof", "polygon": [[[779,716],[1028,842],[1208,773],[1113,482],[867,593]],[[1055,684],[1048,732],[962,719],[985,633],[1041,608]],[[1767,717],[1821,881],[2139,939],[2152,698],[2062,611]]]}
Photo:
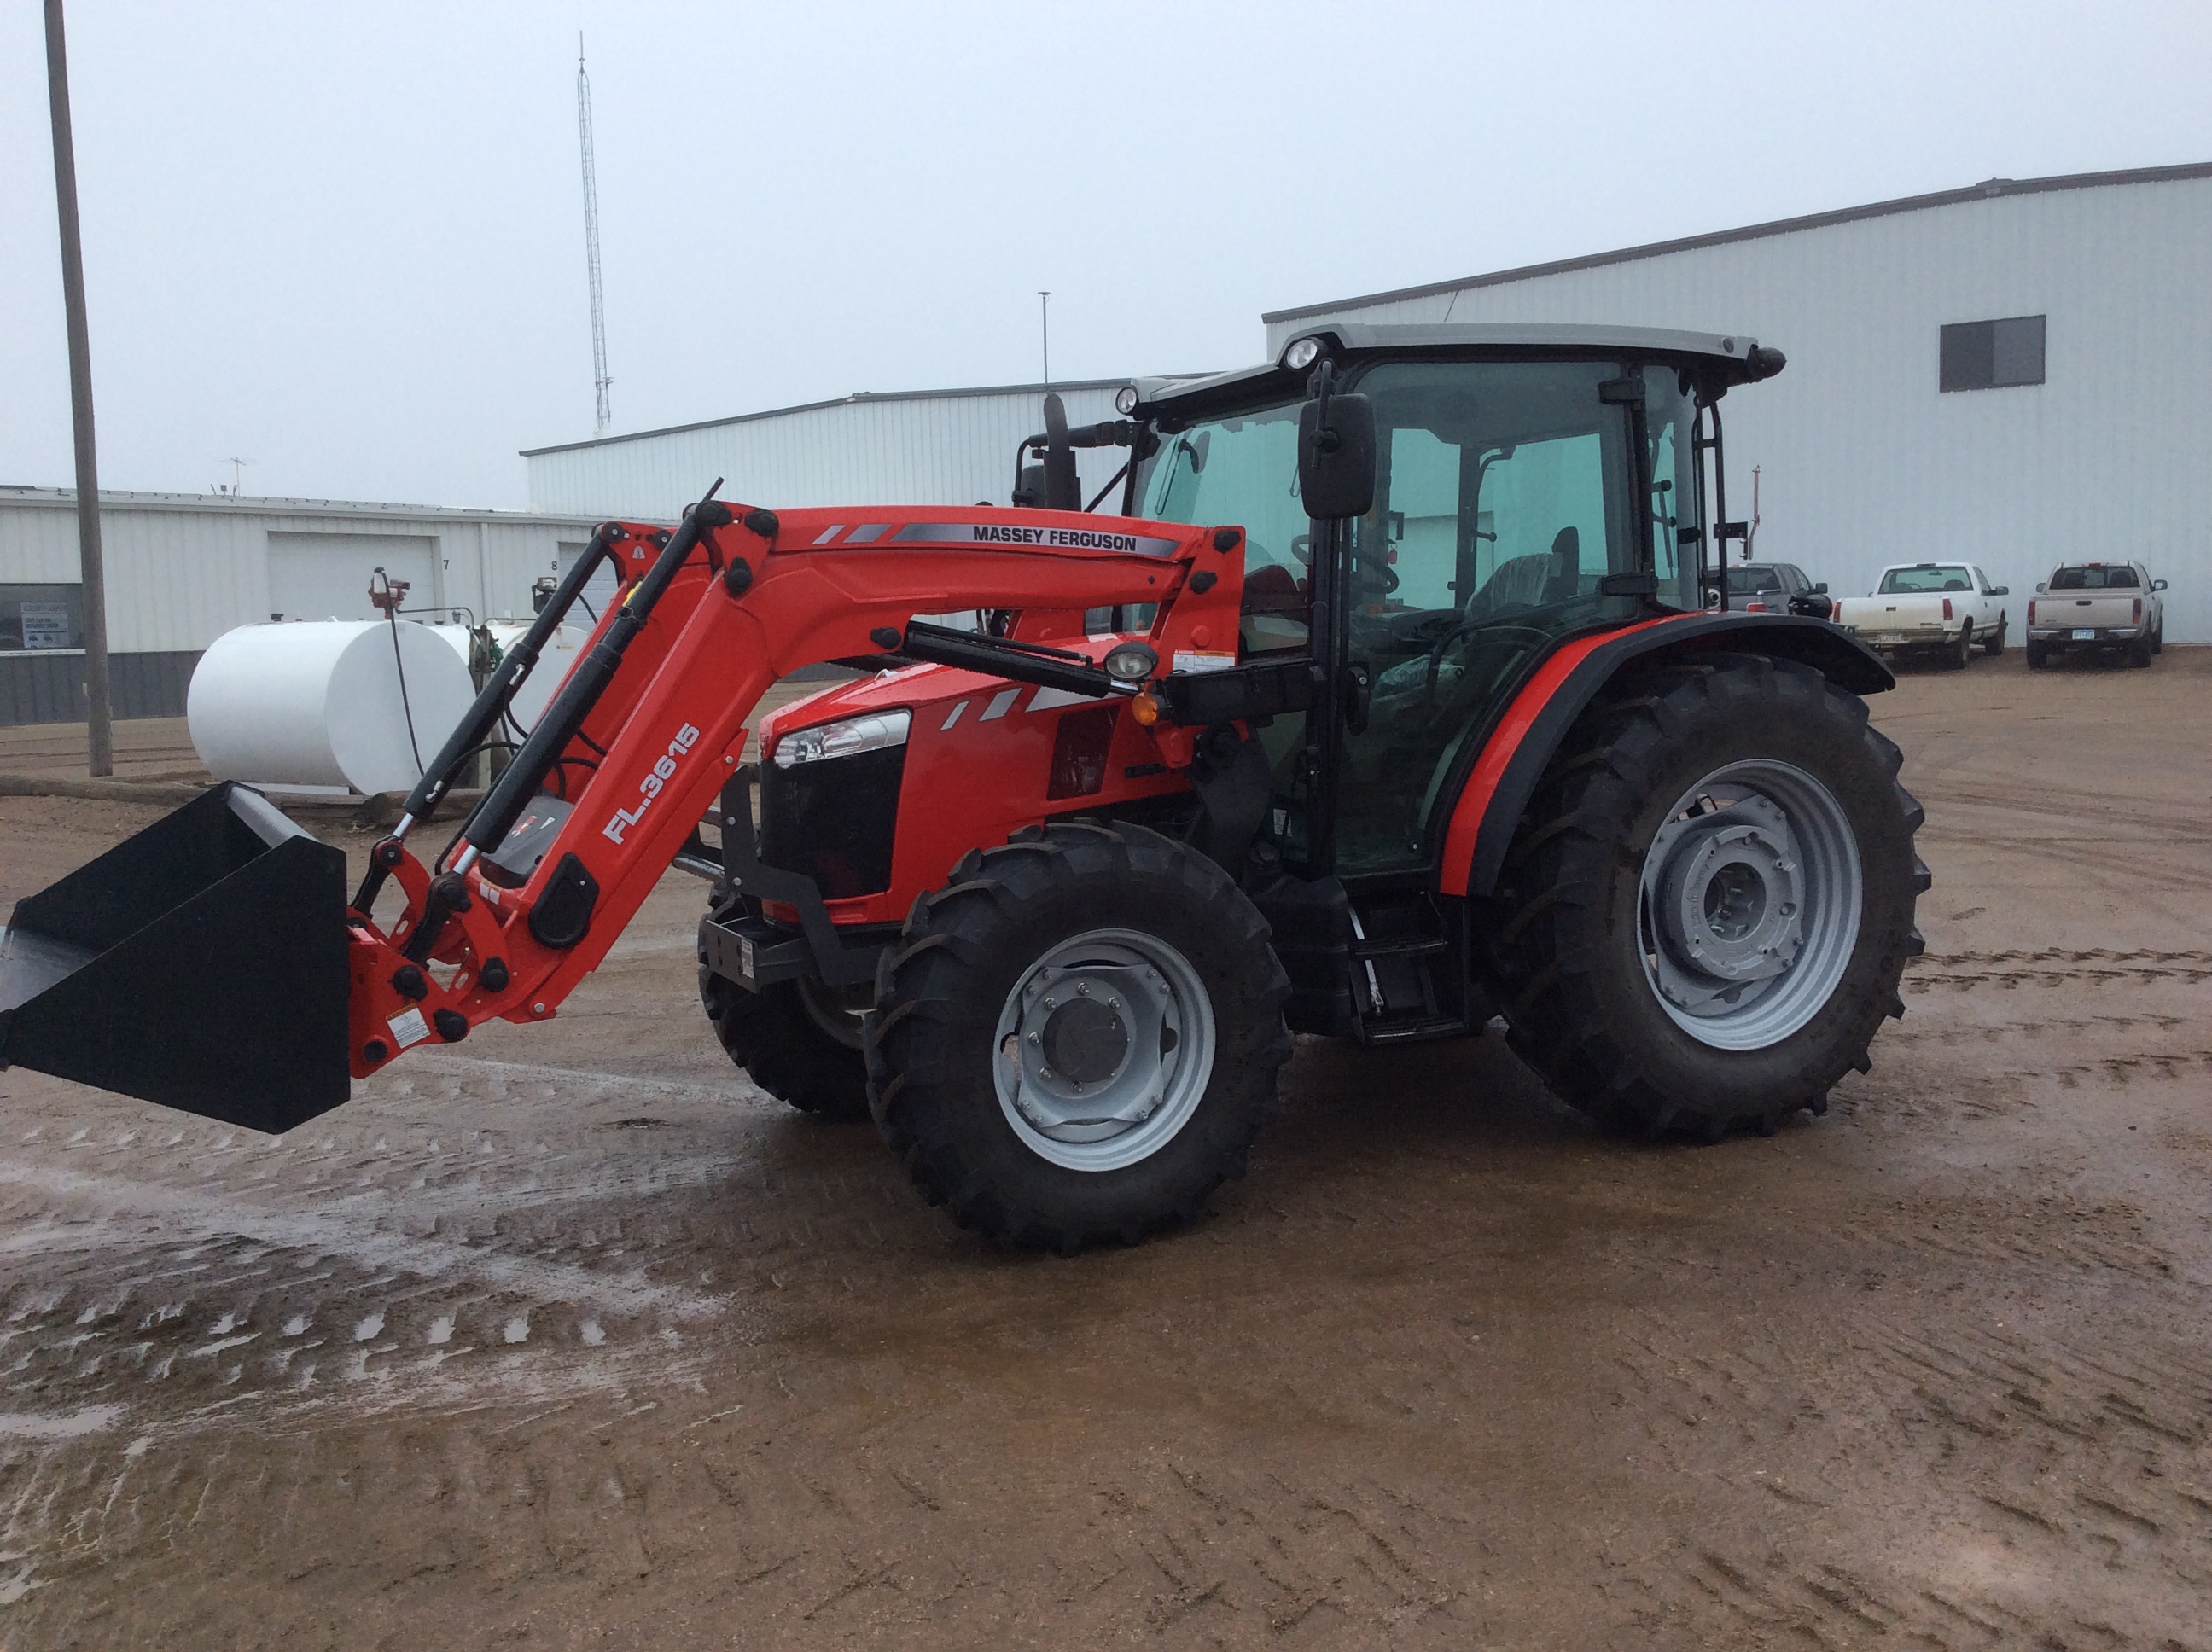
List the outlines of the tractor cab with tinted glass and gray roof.
{"label": "tractor cab with tinted glass and gray roof", "polygon": [[[1705,606],[1730,531],[1717,402],[1781,365],[1686,332],[1323,325],[1265,367],[1126,396],[1124,513],[1241,522],[1239,655],[1310,659],[1338,712],[1263,730],[1285,869],[1433,869],[1491,728],[1564,639]],[[1374,418],[1371,493],[1343,522],[1301,495],[1323,376]]]}

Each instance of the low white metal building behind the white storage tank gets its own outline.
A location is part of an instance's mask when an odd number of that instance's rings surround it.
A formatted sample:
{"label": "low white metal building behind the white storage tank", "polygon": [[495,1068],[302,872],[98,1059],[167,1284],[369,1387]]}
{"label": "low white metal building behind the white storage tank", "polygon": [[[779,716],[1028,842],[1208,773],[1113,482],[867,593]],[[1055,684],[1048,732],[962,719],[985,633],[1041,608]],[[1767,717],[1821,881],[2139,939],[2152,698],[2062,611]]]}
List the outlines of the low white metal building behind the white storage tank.
{"label": "low white metal building behind the white storage tank", "polygon": [[[201,650],[272,617],[376,619],[372,568],[420,619],[531,613],[597,517],[422,504],[100,493],[117,717],[181,717]],[[0,487],[0,725],[84,719],[73,489]]]}

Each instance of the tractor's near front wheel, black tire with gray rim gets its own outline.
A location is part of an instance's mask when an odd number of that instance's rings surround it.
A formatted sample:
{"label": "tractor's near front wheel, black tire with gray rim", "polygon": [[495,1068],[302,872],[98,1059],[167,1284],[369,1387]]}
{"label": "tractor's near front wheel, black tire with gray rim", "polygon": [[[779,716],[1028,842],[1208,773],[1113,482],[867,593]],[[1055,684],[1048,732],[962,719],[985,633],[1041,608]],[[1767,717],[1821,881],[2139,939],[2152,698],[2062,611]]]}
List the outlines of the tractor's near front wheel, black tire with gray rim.
{"label": "tractor's near front wheel, black tire with gray rim", "polygon": [[1031,827],[971,849],[876,966],[869,1104],[962,1227],[1133,1245],[1243,1174],[1287,1000],[1267,922],[1212,860],[1137,825]]}

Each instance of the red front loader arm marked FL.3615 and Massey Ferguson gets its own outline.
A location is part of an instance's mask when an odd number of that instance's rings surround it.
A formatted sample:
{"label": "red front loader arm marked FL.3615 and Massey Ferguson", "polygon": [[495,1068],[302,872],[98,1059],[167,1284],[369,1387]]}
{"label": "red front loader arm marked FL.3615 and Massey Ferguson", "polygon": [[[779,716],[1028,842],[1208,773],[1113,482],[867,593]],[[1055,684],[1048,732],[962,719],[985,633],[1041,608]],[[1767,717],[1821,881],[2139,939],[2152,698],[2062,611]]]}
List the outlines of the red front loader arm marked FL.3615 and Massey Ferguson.
{"label": "red front loader arm marked FL.3615 and Massey Ferguson", "polygon": [[[626,624],[606,615],[593,650],[515,754],[509,796],[495,790],[478,807],[451,865],[422,867],[398,838],[378,845],[407,911],[389,929],[365,911],[349,916],[356,1077],[416,1042],[451,1042],[487,1020],[551,1017],[712,807],[754,705],[801,666],[883,652],[878,632],[962,608],[1057,613],[1071,621],[1064,635],[1079,630],[1086,608],[1159,604],[1152,637],[1164,655],[1234,648],[1237,533],[1044,511],[858,515],[723,520],[712,506],[703,526],[679,529],[655,571],[630,586],[624,606],[646,602],[648,613],[628,626],[626,648],[595,672],[593,659]],[[617,531],[633,548],[655,542],[650,529]],[[520,807],[544,807],[533,774],[560,776],[549,785],[566,818],[526,882],[500,887],[484,858],[500,849],[518,794]]]}

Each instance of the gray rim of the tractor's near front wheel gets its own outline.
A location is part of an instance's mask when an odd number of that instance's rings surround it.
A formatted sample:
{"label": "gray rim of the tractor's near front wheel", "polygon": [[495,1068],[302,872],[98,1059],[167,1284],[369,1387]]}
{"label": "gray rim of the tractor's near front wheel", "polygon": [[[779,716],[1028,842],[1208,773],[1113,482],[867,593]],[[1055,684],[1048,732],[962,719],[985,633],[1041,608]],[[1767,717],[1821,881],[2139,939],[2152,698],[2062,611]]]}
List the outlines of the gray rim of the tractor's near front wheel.
{"label": "gray rim of the tractor's near front wheel", "polygon": [[1006,1123],[1066,1170],[1124,1170],[1190,1123],[1214,1075],[1214,1006],[1175,947],[1091,929],[1037,958],[991,1042]]}

